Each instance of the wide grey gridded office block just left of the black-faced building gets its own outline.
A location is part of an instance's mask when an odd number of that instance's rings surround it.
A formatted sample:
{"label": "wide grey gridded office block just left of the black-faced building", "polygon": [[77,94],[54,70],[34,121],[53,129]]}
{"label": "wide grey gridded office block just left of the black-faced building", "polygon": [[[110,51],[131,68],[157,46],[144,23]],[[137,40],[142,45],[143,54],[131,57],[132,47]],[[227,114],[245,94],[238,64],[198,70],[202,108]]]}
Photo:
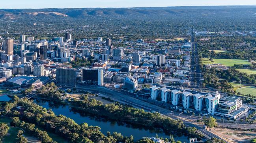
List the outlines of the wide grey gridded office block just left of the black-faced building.
{"label": "wide grey gridded office block just left of the black-faced building", "polygon": [[60,85],[76,85],[77,69],[58,67],[56,69],[56,83]]}

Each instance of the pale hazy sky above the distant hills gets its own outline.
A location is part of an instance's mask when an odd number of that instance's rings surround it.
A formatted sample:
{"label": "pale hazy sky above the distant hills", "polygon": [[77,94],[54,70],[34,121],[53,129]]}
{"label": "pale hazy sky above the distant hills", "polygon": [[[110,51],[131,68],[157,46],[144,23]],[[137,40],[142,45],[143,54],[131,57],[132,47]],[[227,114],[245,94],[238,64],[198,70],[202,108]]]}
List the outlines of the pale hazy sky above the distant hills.
{"label": "pale hazy sky above the distant hills", "polygon": [[0,9],[191,5],[256,5],[256,0],[5,0],[4,2],[0,2]]}

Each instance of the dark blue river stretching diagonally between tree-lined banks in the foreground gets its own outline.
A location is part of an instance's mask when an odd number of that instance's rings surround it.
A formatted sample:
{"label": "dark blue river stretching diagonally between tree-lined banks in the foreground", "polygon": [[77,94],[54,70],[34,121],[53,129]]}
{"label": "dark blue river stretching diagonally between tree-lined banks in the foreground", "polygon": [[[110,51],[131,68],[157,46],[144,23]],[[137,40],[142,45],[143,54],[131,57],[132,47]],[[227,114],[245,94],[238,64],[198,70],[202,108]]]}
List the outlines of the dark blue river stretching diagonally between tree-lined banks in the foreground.
{"label": "dark blue river stretching diagonally between tree-lined banks in the foreground", "polygon": [[[92,117],[89,114],[80,114],[75,112],[74,109],[71,109],[68,106],[59,105],[58,103],[53,103],[49,101],[42,101],[42,100],[35,100],[35,102],[45,107],[46,109],[52,109],[52,111],[56,114],[62,114],[68,118],[73,119],[76,123],[88,123],[88,125],[92,126],[98,126],[101,128],[101,132],[103,134],[107,134],[107,131],[112,132],[121,132],[123,136],[131,136],[133,135],[133,138],[135,140],[141,139],[143,137],[151,137],[156,136],[156,134],[159,137],[163,138],[169,138],[169,134],[166,135],[161,129],[154,130],[154,129],[145,129],[142,127],[135,127],[131,125],[127,125],[125,123],[118,123],[116,121],[109,121],[107,119]],[[183,134],[173,134],[175,140],[179,140],[181,142],[188,142],[188,137],[184,136]]]}

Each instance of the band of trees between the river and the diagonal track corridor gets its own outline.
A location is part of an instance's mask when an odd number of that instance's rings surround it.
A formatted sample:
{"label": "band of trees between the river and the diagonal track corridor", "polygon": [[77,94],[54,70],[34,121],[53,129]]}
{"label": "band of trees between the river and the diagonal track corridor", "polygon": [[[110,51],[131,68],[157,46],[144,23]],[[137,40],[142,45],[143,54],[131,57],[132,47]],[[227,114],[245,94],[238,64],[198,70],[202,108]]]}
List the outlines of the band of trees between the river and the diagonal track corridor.
{"label": "band of trees between the river and the diagonal track corridor", "polygon": [[181,120],[175,120],[161,116],[159,113],[145,112],[143,109],[136,109],[120,103],[102,105],[101,101],[83,96],[82,100],[69,100],[70,104],[79,110],[91,112],[99,116],[106,116],[110,119],[125,121],[127,123],[142,125],[144,127],[161,127],[163,130],[176,130],[196,135],[196,129],[185,127]]}

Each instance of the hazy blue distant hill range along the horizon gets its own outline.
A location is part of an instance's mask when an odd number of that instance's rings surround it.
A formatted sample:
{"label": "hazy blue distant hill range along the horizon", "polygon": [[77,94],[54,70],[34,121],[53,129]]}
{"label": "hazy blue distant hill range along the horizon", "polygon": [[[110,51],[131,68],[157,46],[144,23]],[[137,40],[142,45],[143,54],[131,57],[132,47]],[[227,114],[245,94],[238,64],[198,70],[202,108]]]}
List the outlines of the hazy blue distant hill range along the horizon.
{"label": "hazy blue distant hill range along the horizon", "polygon": [[168,16],[172,14],[256,13],[256,5],[189,6],[189,7],[133,7],[133,8],[66,8],[66,9],[0,9],[0,18],[54,16],[84,18],[86,16]]}

